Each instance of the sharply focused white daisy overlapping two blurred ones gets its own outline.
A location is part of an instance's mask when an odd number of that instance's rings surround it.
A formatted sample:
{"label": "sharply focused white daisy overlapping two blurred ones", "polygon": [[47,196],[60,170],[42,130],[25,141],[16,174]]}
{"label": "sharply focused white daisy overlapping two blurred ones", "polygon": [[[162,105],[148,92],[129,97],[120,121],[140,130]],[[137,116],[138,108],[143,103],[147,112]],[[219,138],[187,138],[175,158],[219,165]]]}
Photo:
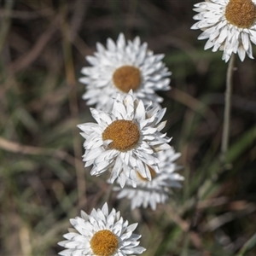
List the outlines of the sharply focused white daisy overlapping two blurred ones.
{"label": "sharply focused white daisy overlapping two blurred ones", "polygon": [[149,106],[132,95],[117,95],[112,113],[90,108],[95,123],[78,125],[85,138],[85,166],[93,165],[91,175],[111,170],[110,181],[118,178],[121,187],[131,181],[136,187],[136,171],[151,180],[148,169],[159,172],[156,152],[170,148],[170,138],[160,133],[166,122],[160,122],[166,109]]}

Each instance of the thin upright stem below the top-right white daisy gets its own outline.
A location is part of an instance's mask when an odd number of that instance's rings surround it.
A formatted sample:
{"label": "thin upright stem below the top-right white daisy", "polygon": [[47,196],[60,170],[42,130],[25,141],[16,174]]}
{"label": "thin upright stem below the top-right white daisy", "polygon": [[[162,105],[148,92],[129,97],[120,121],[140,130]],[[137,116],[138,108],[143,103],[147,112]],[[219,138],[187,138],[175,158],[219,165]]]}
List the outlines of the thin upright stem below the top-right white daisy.
{"label": "thin upright stem below the top-right white daisy", "polygon": [[226,153],[229,148],[230,138],[230,107],[231,107],[231,94],[232,94],[232,81],[233,81],[233,70],[235,64],[235,55],[232,54],[230,57],[229,67],[226,78],[226,92],[225,92],[225,103],[224,103],[224,127],[222,133],[222,144],[221,144],[221,156],[224,161]]}

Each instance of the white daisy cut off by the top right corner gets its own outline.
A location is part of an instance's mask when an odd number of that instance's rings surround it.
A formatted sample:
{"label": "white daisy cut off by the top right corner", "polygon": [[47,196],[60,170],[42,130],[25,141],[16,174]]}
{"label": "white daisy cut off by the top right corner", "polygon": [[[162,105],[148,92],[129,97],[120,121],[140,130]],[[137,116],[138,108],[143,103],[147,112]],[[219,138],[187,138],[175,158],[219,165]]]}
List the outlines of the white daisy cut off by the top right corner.
{"label": "white daisy cut off by the top right corner", "polygon": [[222,59],[229,61],[232,53],[244,60],[253,59],[252,44],[256,44],[256,0],[206,0],[196,3],[194,16],[200,20],[192,29],[201,29],[198,39],[207,39],[205,49],[224,51]]}

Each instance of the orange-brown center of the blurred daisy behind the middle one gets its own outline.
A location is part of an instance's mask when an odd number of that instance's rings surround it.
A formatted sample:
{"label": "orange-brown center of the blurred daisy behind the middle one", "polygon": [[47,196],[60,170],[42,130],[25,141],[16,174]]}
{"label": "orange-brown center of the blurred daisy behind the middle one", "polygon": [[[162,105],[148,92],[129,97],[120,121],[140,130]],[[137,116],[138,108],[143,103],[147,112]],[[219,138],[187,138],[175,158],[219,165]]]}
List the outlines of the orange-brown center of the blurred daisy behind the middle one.
{"label": "orange-brown center of the blurred daisy behind the middle one", "polygon": [[119,90],[127,93],[129,90],[137,90],[141,84],[141,74],[137,67],[123,66],[113,73],[113,84]]}

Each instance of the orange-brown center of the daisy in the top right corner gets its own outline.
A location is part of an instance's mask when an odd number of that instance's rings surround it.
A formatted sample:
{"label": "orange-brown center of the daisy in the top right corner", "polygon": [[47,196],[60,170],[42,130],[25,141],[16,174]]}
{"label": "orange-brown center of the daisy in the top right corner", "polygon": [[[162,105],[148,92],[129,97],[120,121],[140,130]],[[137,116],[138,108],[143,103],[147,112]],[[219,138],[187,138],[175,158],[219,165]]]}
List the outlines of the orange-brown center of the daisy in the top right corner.
{"label": "orange-brown center of the daisy in the top right corner", "polygon": [[252,0],[230,0],[225,9],[225,17],[234,26],[248,28],[256,18],[256,6]]}

